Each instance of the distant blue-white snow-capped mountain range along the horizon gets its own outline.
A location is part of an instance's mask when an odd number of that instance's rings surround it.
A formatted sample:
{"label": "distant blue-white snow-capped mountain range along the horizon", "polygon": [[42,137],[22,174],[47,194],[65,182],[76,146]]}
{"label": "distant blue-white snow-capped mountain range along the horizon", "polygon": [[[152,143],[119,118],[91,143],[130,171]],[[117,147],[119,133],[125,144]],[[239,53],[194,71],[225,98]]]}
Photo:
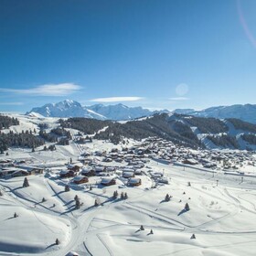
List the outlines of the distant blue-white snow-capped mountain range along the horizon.
{"label": "distant blue-white snow-capped mountain range along the horizon", "polygon": [[[66,100],[33,108],[30,112],[27,112],[27,114],[40,114],[45,117],[87,117],[99,120],[121,121],[150,116],[161,112],[169,111],[150,111],[142,107],[127,107],[121,103],[115,105],[95,104],[82,106],[78,101]],[[173,112],[218,119],[238,118],[245,122],[256,123],[256,105],[252,104],[211,107],[202,111],[177,109]]]}

